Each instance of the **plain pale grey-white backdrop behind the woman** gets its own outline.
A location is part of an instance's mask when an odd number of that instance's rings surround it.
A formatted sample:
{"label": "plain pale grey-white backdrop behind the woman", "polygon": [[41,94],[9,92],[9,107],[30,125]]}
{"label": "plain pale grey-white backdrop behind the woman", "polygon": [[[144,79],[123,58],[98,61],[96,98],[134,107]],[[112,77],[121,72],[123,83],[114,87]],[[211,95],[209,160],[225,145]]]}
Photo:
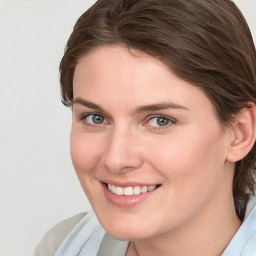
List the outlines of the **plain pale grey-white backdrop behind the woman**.
{"label": "plain pale grey-white backdrop behind the woman", "polygon": [[[71,112],[58,64],[94,0],[0,0],[0,256],[27,256],[90,205],[69,155]],[[235,0],[256,40],[256,0]]]}

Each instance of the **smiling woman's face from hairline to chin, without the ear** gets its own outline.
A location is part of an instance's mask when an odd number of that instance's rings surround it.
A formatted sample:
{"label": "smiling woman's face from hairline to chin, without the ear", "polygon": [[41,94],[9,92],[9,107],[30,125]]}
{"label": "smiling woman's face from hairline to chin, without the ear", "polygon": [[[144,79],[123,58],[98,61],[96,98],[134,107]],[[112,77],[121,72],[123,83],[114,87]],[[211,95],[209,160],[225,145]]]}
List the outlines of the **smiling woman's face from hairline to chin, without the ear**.
{"label": "smiling woman's face from hairline to chin, without the ear", "polygon": [[232,197],[231,133],[210,100],[133,53],[98,47],[73,79],[73,165],[100,223],[123,240],[208,221]]}

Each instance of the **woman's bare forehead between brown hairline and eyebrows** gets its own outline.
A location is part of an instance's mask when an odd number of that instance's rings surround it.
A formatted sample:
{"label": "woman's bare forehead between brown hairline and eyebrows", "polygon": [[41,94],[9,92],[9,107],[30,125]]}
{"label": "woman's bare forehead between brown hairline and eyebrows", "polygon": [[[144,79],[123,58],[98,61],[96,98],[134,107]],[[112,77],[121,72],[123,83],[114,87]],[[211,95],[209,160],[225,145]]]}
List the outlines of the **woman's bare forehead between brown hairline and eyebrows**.
{"label": "woman's bare forehead between brown hairline and eyebrows", "polygon": [[141,104],[171,101],[186,108],[208,107],[208,97],[178,78],[160,60],[120,46],[100,46],[81,57],[73,78],[75,97],[131,109]]}

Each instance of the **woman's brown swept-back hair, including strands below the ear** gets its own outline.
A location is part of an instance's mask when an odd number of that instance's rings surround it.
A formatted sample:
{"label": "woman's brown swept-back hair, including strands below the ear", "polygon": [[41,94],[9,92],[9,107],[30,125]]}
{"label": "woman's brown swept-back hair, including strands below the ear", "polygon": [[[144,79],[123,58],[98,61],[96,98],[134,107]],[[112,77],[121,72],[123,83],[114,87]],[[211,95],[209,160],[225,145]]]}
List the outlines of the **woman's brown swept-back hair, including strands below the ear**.
{"label": "woman's brown swept-back hair, including strands below the ear", "polygon": [[[60,62],[62,102],[73,99],[77,59],[103,44],[143,51],[167,64],[210,98],[224,127],[256,103],[256,51],[248,25],[231,0],[98,0],[74,25]],[[233,195],[243,217],[253,192],[256,145],[235,164]]]}

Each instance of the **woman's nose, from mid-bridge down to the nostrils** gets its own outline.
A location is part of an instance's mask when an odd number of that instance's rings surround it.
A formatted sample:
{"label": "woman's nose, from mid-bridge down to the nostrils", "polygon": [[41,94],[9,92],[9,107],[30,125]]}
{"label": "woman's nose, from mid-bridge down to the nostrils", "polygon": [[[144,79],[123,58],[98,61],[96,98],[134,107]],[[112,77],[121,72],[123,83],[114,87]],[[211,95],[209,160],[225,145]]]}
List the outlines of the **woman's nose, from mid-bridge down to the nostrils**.
{"label": "woman's nose, from mid-bridge down to the nostrils", "polygon": [[114,130],[108,137],[103,161],[105,168],[115,173],[139,168],[143,158],[135,134],[123,129]]}

